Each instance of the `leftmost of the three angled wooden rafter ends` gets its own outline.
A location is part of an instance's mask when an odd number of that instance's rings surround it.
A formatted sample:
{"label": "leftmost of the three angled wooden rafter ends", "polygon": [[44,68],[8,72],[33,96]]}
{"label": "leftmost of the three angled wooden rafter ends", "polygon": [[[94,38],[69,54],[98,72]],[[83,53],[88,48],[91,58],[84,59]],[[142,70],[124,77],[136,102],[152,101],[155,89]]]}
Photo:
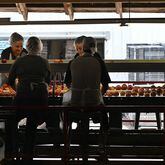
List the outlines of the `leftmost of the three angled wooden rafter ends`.
{"label": "leftmost of the three angled wooden rafter ends", "polygon": [[28,20],[28,9],[25,3],[16,3],[17,10],[22,14],[25,21]]}

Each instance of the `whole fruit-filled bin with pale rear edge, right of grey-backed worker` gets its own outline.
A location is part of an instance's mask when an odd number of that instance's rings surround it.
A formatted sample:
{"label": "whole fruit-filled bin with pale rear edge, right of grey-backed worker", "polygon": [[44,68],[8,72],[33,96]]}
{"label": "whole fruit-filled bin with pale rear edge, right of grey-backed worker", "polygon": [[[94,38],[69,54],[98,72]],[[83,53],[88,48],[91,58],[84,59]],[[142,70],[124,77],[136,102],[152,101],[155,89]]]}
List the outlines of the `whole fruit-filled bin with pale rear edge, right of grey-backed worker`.
{"label": "whole fruit-filled bin with pale rear edge, right of grey-backed worker", "polygon": [[127,82],[112,83],[105,97],[163,97],[165,83],[162,82]]}

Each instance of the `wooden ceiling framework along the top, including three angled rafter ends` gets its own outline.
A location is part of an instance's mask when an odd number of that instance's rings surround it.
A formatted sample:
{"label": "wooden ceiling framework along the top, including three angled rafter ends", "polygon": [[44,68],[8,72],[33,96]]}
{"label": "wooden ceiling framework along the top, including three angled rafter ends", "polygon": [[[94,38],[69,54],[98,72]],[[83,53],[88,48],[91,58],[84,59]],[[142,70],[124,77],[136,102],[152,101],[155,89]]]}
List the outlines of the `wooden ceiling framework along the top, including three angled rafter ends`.
{"label": "wooden ceiling framework along the top, including three angled rafter ends", "polygon": [[122,18],[127,12],[164,13],[165,0],[0,0],[0,12],[8,11],[19,11],[24,20],[30,12],[65,12],[70,20],[76,12],[116,12]]}

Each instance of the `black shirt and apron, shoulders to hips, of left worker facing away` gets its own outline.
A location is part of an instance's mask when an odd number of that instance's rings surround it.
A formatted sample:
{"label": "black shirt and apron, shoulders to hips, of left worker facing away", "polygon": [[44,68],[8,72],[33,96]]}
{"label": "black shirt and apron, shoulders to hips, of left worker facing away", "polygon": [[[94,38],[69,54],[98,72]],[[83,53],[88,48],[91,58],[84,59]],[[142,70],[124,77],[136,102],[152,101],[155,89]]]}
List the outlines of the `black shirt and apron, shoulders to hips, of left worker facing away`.
{"label": "black shirt and apron, shoulders to hips, of left worker facing away", "polygon": [[16,78],[18,84],[14,103],[18,111],[46,110],[48,104],[46,83],[50,82],[48,61],[37,55],[17,58],[9,71],[8,84],[13,86]]}

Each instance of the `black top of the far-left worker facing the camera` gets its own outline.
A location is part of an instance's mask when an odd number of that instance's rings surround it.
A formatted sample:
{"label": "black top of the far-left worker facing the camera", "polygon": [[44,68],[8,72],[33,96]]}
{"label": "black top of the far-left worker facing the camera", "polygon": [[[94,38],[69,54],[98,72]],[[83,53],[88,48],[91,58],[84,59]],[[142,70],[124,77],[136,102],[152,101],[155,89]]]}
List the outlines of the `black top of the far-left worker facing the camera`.
{"label": "black top of the far-left worker facing the camera", "polygon": [[[27,50],[23,48],[20,56],[27,55],[27,53],[28,53]],[[15,60],[16,59],[16,56],[13,55],[13,52],[12,52],[11,47],[8,47],[8,48],[6,48],[6,49],[4,49],[2,51],[2,53],[1,53],[1,59],[7,59],[7,60],[9,60],[10,54],[11,54],[12,60]]]}

